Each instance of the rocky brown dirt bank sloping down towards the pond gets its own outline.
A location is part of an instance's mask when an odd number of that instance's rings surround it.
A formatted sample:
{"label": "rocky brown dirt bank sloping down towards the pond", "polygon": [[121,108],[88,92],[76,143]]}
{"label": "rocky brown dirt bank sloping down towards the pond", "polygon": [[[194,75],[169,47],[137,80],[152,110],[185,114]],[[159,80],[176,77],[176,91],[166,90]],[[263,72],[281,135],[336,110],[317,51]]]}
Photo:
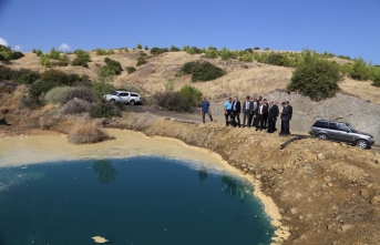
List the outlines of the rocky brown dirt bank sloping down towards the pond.
{"label": "rocky brown dirt bank sloping down towards the pond", "polygon": [[[68,133],[78,120],[61,119],[51,130]],[[219,154],[242,174],[259,181],[260,191],[278,206],[284,228],[277,235],[290,235],[278,242],[380,244],[378,153],[317,139],[279,150],[287,139],[277,134],[222,123],[181,123],[150,113],[125,113],[121,119],[100,120],[99,124],[178,139]],[[2,134],[23,131],[13,129]]]}

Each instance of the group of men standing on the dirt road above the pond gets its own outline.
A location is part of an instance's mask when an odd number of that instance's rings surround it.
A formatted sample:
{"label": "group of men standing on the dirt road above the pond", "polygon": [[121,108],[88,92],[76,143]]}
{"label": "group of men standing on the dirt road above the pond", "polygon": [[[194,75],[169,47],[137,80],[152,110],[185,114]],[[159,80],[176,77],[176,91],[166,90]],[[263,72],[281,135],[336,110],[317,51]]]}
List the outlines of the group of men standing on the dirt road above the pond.
{"label": "group of men standing on the dirt road above the pond", "polygon": [[[243,127],[254,126],[256,127],[256,131],[267,130],[268,133],[274,133],[277,131],[277,119],[280,118],[281,131],[279,134],[290,134],[289,121],[291,120],[292,108],[289,104],[289,101],[285,101],[281,103],[283,112],[280,113],[278,104],[278,101],[270,101],[270,103],[268,103],[267,99],[263,100],[263,96],[259,96],[258,99],[254,96],[254,100],[250,100],[249,96],[246,96],[246,100],[243,102],[242,106],[242,103],[237,96],[235,96],[234,100],[228,98],[228,100],[224,103],[226,125],[240,127],[240,113],[243,112]],[[203,115],[204,123],[205,114],[208,114],[209,120],[213,121],[209,102],[206,100],[206,98],[203,98],[201,113]]]}

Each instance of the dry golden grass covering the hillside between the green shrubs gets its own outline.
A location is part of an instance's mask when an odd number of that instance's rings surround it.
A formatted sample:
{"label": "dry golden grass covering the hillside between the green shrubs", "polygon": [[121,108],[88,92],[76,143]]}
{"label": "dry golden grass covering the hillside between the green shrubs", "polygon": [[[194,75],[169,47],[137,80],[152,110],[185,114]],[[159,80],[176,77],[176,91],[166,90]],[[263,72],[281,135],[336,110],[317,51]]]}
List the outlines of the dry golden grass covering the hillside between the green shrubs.
{"label": "dry golden grass covering the hillside between the green shrubs", "polygon": [[[175,90],[178,90],[184,84],[192,84],[203,91],[203,93],[212,99],[225,99],[229,95],[246,95],[264,94],[274,90],[285,91],[286,85],[290,82],[292,68],[269,65],[258,62],[240,62],[238,60],[223,61],[220,59],[206,59],[202,54],[188,54],[184,51],[166,52],[147,59],[147,63],[142,67],[136,67],[137,71],[129,74],[125,71],[126,67],[135,67],[140,55],[138,50],[130,50],[130,52],[119,52],[112,55],[96,55],[91,51],[91,60],[89,69],[82,67],[57,67],[68,73],[88,74],[92,80],[96,80],[97,70],[104,65],[104,58],[109,57],[119,61],[124,71],[117,75],[114,85],[124,88],[127,84],[138,85],[142,94],[153,95],[157,91],[165,90],[165,82],[170,78],[175,81]],[[148,51],[143,51],[150,55]],[[7,65],[11,69],[27,68],[35,71],[48,70],[40,64],[39,58],[34,53],[24,53],[25,57],[12,61],[12,64]],[[69,54],[69,60],[73,60],[75,54]],[[208,62],[224,69],[227,74],[208,82],[193,83],[189,75],[175,76],[181,67],[189,61],[207,60]],[[347,62],[336,59],[338,62]],[[356,81],[350,78],[339,84],[341,93],[357,96],[364,101],[380,104],[380,88],[371,85],[371,81]]]}

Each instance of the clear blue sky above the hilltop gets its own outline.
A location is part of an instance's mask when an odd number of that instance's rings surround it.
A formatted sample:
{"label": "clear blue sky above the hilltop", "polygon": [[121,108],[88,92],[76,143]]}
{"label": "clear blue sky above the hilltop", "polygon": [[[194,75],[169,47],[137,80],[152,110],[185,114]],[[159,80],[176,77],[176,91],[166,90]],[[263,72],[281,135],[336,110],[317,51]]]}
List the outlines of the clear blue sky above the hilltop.
{"label": "clear blue sky above the hilltop", "polygon": [[380,0],[0,0],[0,43],[24,52],[308,48],[380,64],[379,23]]}

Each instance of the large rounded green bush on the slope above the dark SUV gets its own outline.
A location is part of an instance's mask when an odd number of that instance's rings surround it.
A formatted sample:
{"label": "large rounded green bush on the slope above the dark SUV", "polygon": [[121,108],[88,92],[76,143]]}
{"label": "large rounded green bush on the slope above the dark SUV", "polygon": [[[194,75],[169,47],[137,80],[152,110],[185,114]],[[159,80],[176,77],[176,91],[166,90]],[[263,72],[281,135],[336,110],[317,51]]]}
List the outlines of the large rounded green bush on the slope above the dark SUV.
{"label": "large rounded green bush on the slope above the dark SUV", "polygon": [[320,101],[333,96],[342,80],[339,65],[307,52],[304,62],[294,71],[289,91],[299,91],[312,100]]}

